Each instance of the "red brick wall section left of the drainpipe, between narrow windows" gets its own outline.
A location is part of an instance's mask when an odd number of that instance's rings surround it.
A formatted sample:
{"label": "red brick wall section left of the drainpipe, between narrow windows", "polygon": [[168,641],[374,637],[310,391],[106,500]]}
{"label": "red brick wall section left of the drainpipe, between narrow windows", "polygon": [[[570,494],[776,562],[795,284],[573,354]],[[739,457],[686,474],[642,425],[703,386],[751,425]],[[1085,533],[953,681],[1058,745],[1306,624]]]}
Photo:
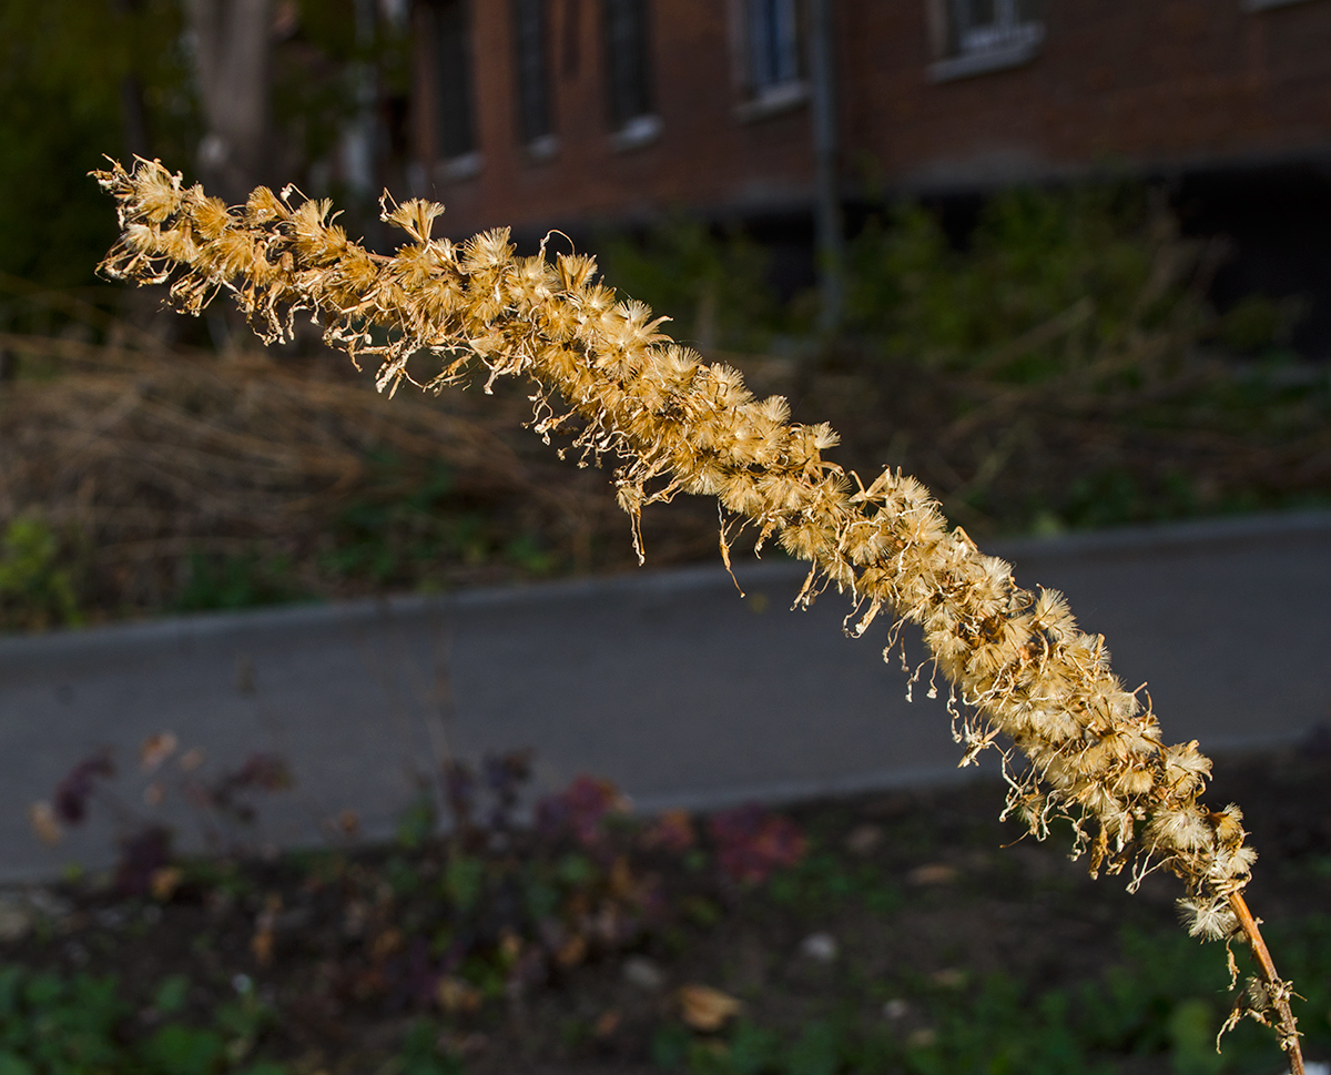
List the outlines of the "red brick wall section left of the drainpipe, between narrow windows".
{"label": "red brick wall section left of the drainpipe, between narrow windows", "polygon": [[[728,11],[724,0],[655,0],[651,51],[659,137],[616,150],[604,101],[599,4],[551,4],[554,129],[559,149],[528,158],[518,134],[508,5],[473,5],[480,172],[445,181],[423,169],[426,190],[447,205],[449,231],[499,224],[519,229],[647,218],[672,206],[744,212],[808,200],[808,110],[737,122]],[[429,57],[422,48],[422,67]],[[417,100],[427,71],[418,77]],[[429,146],[429,108],[417,112]]]}

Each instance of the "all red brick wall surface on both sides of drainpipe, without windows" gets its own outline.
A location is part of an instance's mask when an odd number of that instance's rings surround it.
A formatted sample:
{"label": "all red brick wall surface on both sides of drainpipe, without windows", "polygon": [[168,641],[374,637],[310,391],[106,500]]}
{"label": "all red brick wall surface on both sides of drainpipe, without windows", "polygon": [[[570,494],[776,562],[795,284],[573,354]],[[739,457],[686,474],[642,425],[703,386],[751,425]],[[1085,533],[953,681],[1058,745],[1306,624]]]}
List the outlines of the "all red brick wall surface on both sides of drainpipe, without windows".
{"label": "all red brick wall surface on both sides of drainpipe, without windows", "polygon": [[[650,0],[659,137],[612,145],[599,0],[551,0],[556,154],[518,136],[510,5],[473,0],[482,165],[446,180],[433,156],[429,48],[418,53],[422,192],[465,234],[807,209],[809,114],[741,121],[733,0]],[[845,190],[944,190],[1075,174],[1331,160],[1331,0],[1046,0],[1032,63],[933,82],[926,0],[835,0]]]}

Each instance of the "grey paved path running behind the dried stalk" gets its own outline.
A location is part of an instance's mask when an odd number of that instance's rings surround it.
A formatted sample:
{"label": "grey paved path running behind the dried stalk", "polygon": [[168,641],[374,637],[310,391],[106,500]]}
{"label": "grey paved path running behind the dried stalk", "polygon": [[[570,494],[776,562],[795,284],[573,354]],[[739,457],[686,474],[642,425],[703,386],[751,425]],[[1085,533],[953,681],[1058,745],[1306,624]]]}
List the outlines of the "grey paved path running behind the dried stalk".
{"label": "grey paved path running behind the dried stalk", "polygon": [[[1331,718],[1331,514],[992,548],[1067,593],[1170,738],[1294,741]],[[885,624],[845,639],[835,592],[787,612],[797,565],[737,575],[745,599],[720,568],[644,571],[0,640],[0,879],[105,862],[106,828],[48,850],[27,806],[105,742],[137,804],[128,762],[162,729],[218,765],[282,750],[299,786],[265,813],[276,842],[343,808],[387,832],[445,749],[532,746],[543,786],[604,774],[644,808],[956,776],[942,701],[908,702],[878,659]]]}

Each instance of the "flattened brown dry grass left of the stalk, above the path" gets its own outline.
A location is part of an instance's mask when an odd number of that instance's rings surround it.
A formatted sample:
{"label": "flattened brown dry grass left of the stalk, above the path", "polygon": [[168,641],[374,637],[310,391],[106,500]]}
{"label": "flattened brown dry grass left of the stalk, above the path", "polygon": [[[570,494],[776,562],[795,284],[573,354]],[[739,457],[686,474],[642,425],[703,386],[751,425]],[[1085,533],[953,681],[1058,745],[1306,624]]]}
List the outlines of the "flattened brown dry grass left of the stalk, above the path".
{"label": "flattened brown dry grass left of the stalk, above the path", "polygon": [[[470,396],[390,403],[327,355],[217,357],[126,322],[98,329],[98,343],[0,334],[0,349],[36,374],[0,384],[0,523],[37,515],[60,535],[95,619],[170,607],[198,556],[282,556],[286,584],[310,596],[382,588],[382,579],[333,569],[319,553],[335,544],[349,506],[407,498],[441,466],[453,475],[449,503],[494,541],[540,534],[560,569],[631,563],[602,483],[515,448],[528,407],[520,391],[484,415],[467,414]],[[688,526],[676,527],[672,540],[685,551],[711,544],[701,519],[693,530],[691,539]],[[389,581],[522,573],[500,551],[459,553],[431,564],[427,577]]]}

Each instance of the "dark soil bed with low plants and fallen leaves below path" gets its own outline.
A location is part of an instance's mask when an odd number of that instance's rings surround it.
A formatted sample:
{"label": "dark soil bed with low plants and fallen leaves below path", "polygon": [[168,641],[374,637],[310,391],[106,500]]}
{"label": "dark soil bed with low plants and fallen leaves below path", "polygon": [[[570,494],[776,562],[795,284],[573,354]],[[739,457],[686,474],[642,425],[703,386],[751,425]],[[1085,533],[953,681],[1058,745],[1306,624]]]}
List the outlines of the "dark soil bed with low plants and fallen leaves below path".
{"label": "dark soil bed with low plants and fallen leaves below path", "polygon": [[[148,746],[161,768],[137,782],[186,756]],[[1251,1024],[1215,1052],[1225,950],[1178,933],[1166,879],[1129,897],[1062,849],[1020,841],[994,821],[997,781],[648,818],[584,777],[532,814],[527,760],[437,774],[378,847],[334,834],[265,858],[260,800],[216,855],[144,870],[122,853],[129,869],[7,890],[0,1063],[69,1075],[1278,1070]],[[1307,997],[1316,1059],[1331,1056],[1326,769],[1310,742],[1222,758],[1215,777],[1250,808],[1264,865],[1252,891]],[[516,806],[496,813],[487,788],[516,792]],[[106,809],[87,794],[87,809]]]}

